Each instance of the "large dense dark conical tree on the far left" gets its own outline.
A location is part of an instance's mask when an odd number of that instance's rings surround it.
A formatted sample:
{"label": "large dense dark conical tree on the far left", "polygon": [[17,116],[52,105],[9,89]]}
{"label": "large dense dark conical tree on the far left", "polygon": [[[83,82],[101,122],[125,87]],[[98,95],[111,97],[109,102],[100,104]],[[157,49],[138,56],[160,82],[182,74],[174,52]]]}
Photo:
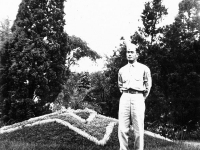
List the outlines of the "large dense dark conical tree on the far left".
{"label": "large dense dark conical tree on the far left", "polygon": [[63,17],[64,0],[22,0],[13,36],[2,48],[5,123],[47,113],[62,90],[70,52]]}

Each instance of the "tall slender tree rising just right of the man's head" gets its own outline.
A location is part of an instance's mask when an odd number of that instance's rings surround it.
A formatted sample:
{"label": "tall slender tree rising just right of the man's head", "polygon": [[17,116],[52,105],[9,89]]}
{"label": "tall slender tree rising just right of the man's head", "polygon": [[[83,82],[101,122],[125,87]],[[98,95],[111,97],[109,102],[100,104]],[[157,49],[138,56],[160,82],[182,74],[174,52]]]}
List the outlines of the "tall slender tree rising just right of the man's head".
{"label": "tall slender tree rising just right of the man's head", "polygon": [[166,93],[162,88],[166,87],[167,81],[163,82],[160,75],[160,59],[165,58],[165,51],[161,50],[160,39],[163,35],[163,27],[159,27],[159,23],[165,15],[167,9],[162,4],[162,0],[146,2],[141,15],[143,26],[131,36],[132,43],[139,46],[138,61],[150,68],[153,80],[150,95],[146,100],[145,127],[149,122],[161,120],[162,114],[168,109]]}

